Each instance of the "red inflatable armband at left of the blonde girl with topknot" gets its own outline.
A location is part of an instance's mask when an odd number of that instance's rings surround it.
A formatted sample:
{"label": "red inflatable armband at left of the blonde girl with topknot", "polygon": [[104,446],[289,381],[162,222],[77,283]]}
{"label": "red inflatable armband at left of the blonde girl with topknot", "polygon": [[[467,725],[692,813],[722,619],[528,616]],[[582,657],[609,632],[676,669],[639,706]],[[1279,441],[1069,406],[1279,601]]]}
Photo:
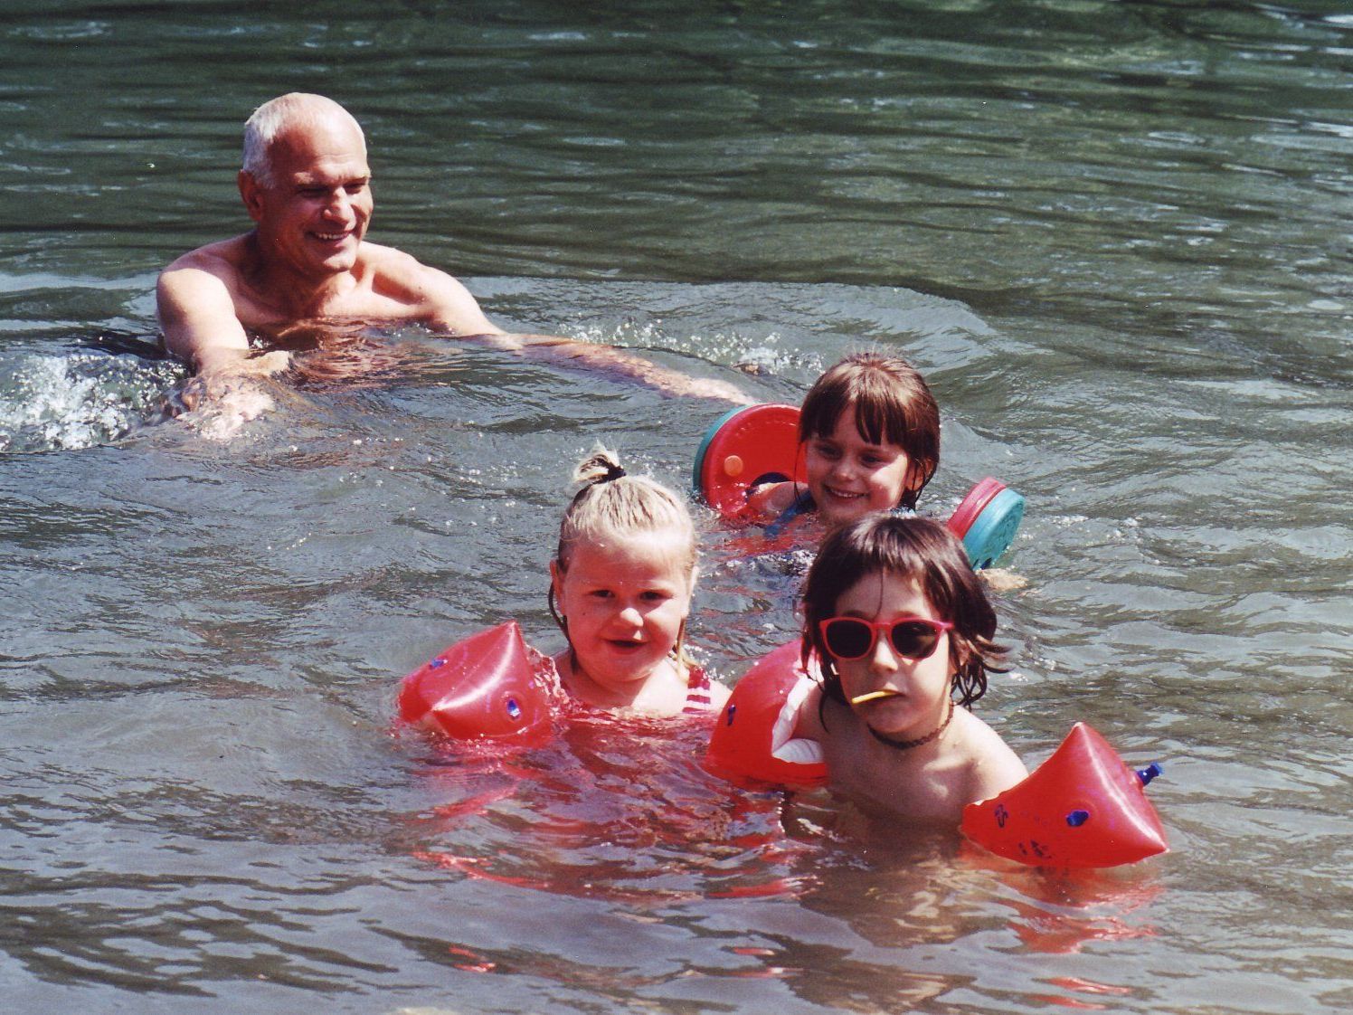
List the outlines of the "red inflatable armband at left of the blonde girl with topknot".
{"label": "red inflatable armband at left of the blonde girl with topknot", "polygon": [[480,631],[405,677],[399,717],[460,740],[537,744],[551,732],[549,694],[517,621]]}

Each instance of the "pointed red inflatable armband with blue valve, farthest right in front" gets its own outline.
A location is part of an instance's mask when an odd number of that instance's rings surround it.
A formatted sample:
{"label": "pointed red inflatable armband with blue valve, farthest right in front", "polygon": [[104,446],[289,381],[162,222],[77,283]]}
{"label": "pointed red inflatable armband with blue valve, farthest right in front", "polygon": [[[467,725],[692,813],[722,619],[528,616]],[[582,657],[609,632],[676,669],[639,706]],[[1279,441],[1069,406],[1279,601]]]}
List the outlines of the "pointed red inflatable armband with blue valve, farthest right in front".
{"label": "pointed red inflatable armband with blue valve, farthest right in front", "polygon": [[1077,723],[1016,786],[963,808],[963,834],[1022,863],[1114,867],[1165,853],[1165,828],[1143,786],[1161,766],[1128,769],[1095,729]]}

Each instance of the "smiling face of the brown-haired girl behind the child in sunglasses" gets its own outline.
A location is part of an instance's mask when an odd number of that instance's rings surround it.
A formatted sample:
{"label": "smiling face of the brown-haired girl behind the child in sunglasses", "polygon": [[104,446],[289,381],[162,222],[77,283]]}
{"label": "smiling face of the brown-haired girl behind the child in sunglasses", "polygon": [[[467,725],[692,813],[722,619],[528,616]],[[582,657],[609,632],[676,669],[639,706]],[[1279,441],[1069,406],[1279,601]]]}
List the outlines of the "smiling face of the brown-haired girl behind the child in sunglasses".
{"label": "smiling face of the brown-haired girl behind the child in sunglasses", "polygon": [[840,525],[901,503],[911,459],[900,444],[865,440],[847,407],[831,433],[808,438],[804,466],[819,516],[828,525]]}

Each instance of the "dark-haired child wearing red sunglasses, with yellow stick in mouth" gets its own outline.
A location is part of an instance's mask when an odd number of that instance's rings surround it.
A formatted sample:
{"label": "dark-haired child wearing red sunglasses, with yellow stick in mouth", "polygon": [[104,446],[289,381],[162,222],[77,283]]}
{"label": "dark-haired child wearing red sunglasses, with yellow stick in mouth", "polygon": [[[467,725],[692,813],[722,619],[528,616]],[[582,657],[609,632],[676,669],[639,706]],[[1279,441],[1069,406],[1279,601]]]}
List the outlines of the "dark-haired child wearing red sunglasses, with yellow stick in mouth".
{"label": "dark-haired child wearing red sunglasses, with yellow stick in mouth", "polygon": [[962,544],[938,521],[866,516],[823,543],[804,587],[804,664],[821,682],[796,738],[870,811],[958,824],[1027,774],[969,708],[1001,647]]}

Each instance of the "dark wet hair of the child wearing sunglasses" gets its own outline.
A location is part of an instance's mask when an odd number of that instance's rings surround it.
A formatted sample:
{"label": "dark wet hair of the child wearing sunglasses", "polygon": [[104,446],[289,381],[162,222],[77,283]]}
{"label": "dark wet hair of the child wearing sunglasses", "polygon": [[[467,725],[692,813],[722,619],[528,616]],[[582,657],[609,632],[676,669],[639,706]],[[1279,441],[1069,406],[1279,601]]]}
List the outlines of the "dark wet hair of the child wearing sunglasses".
{"label": "dark wet hair of the child wearing sunglasses", "polygon": [[816,655],[824,696],[846,702],[836,660],[823,644],[819,623],[836,616],[842,594],[873,574],[893,572],[916,581],[948,632],[948,655],[961,705],[986,693],[986,673],[1005,651],[996,636],[996,610],[982,581],[967,563],[963,544],[934,518],[866,514],[835,529],[823,541],[804,583],[804,663]]}

